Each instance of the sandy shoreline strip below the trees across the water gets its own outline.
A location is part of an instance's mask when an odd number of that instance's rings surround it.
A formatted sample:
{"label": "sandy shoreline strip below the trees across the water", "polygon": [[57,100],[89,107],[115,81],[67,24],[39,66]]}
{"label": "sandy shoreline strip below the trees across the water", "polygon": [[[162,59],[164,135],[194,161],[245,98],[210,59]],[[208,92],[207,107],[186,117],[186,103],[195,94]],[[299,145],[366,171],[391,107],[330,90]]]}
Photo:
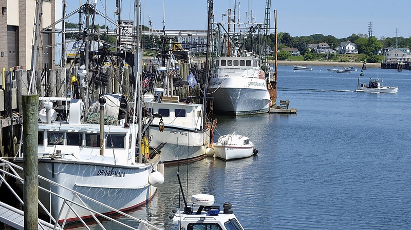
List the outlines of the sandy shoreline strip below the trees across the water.
{"label": "sandy shoreline strip below the trees across the water", "polygon": [[[270,65],[274,65],[274,61],[269,61]],[[362,68],[362,62],[338,62],[338,61],[299,61],[299,60],[278,60],[278,66],[329,66],[329,67],[349,67]],[[381,63],[366,63],[367,68],[381,68]]]}

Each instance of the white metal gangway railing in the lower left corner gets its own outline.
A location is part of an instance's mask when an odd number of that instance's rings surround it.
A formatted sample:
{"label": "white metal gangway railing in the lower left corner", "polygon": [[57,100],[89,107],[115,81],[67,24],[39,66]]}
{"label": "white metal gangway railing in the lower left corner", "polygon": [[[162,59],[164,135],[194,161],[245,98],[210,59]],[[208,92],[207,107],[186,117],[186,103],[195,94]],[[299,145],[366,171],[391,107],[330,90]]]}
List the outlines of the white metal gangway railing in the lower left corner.
{"label": "white metal gangway railing in the lower left corner", "polygon": [[[9,171],[10,171],[10,172],[9,172]],[[6,180],[6,175],[7,175],[8,177],[14,178],[14,179],[16,180],[16,182],[20,182],[20,183],[24,184],[24,179],[17,173],[17,171],[20,172],[20,173],[23,173],[23,172],[24,172],[24,170],[23,170],[23,168],[22,168],[21,166],[19,166],[19,165],[17,165],[17,164],[14,164],[14,163],[12,163],[12,162],[10,162],[10,161],[8,161],[6,158],[0,158],[0,185],[1,185],[2,183],[4,183],[4,184],[9,188],[9,190],[11,191],[11,193],[15,196],[15,198],[18,200],[18,202],[20,202],[20,204],[23,206],[23,205],[24,205],[23,200],[20,198],[20,196],[17,195],[17,193],[12,189],[12,186],[10,186],[10,184],[9,184],[9,183],[7,182],[7,180]],[[119,225],[121,225],[122,227],[128,228],[128,229],[135,229],[135,230],[139,230],[139,229],[157,229],[157,230],[162,230],[161,228],[158,228],[158,227],[156,227],[156,226],[154,226],[154,225],[151,225],[151,224],[149,224],[148,222],[146,222],[146,221],[144,221],[144,220],[141,220],[141,219],[135,218],[135,217],[133,217],[133,216],[130,216],[130,215],[128,215],[128,214],[126,214],[126,213],[124,213],[124,212],[122,212],[122,211],[116,210],[116,208],[110,207],[110,206],[108,206],[108,205],[106,205],[106,204],[104,204],[104,203],[101,203],[101,202],[99,202],[99,201],[97,201],[97,200],[94,200],[94,199],[92,199],[92,198],[89,198],[89,197],[87,197],[87,196],[85,196],[85,195],[83,195],[83,194],[81,194],[81,193],[79,193],[79,192],[76,192],[76,191],[74,191],[74,190],[71,190],[71,189],[69,189],[68,187],[65,187],[65,186],[63,186],[63,185],[60,185],[60,184],[58,184],[58,183],[55,183],[54,181],[51,181],[51,180],[49,180],[49,179],[47,179],[47,178],[42,177],[42,176],[39,175],[39,180],[40,180],[40,179],[48,182],[48,183],[50,184],[50,187],[51,187],[51,185],[52,185],[52,186],[57,186],[57,187],[60,187],[62,190],[68,191],[68,192],[70,192],[70,193],[73,194],[73,198],[72,198],[71,200],[69,200],[69,199],[66,199],[66,198],[64,198],[63,196],[61,196],[61,195],[59,195],[59,194],[56,194],[56,193],[50,191],[49,189],[46,189],[46,188],[44,188],[44,187],[42,187],[42,186],[39,185],[39,191],[43,191],[43,192],[46,192],[46,193],[50,194],[50,200],[51,200],[51,197],[52,197],[52,196],[59,197],[60,199],[63,199],[63,200],[64,200],[64,202],[63,202],[63,204],[62,204],[62,206],[61,206],[61,208],[60,208],[60,213],[59,213],[57,219],[60,219],[60,217],[63,215],[63,210],[64,210],[65,205],[68,206],[68,210],[67,210],[67,213],[66,213],[66,217],[64,218],[64,221],[63,221],[62,225],[59,225],[59,222],[56,221],[56,219],[50,214],[50,212],[48,212],[47,208],[41,203],[40,200],[38,200],[38,203],[39,203],[40,207],[44,210],[44,212],[46,213],[46,215],[49,217],[49,222],[50,222],[51,224],[54,224],[53,229],[59,229],[59,228],[62,229],[62,228],[64,228],[64,226],[65,226],[65,224],[66,224],[66,222],[67,222],[68,212],[70,212],[70,210],[73,211],[73,206],[76,205],[76,206],[79,206],[79,207],[81,207],[81,208],[84,208],[84,210],[88,211],[88,212],[90,213],[90,216],[91,216],[92,218],[94,218],[94,220],[96,221],[96,223],[97,223],[102,229],[106,229],[106,228],[102,225],[101,221],[100,221],[97,217],[103,218],[105,221],[112,221],[112,222],[114,222],[114,223],[116,223],[116,224],[119,224]],[[39,184],[40,184],[40,183],[39,183]],[[80,200],[81,202],[79,203],[79,202],[74,201],[74,200],[76,200],[76,199]],[[110,212],[111,214],[116,213],[116,214],[118,214],[119,216],[124,216],[124,217],[127,217],[127,218],[129,218],[129,219],[132,219],[132,220],[134,220],[134,221],[137,221],[137,222],[140,223],[140,225],[139,225],[138,228],[135,228],[135,227],[133,227],[133,226],[127,225],[127,224],[125,224],[125,223],[122,223],[122,222],[120,222],[120,221],[118,221],[118,220],[116,220],[116,219],[113,219],[113,218],[111,218],[111,217],[109,217],[109,216],[107,216],[107,215],[104,215],[104,214],[102,214],[102,213],[96,212],[96,211],[92,210],[91,208],[89,208],[89,207],[86,205],[86,203],[84,202],[83,199],[86,199],[86,200],[90,201],[90,202],[93,203],[93,204],[99,204],[99,205],[101,205],[101,206],[104,206],[104,207],[108,208],[108,209],[111,211],[111,212]],[[73,213],[77,216],[77,218],[79,219],[79,221],[80,221],[87,229],[90,229],[90,228],[87,226],[87,224],[84,222],[84,220],[81,219],[80,216],[79,216],[76,212],[73,211]],[[111,215],[111,214],[110,214],[110,215]],[[40,219],[39,219],[39,224],[40,224]],[[44,229],[45,229],[45,228],[44,228]]]}

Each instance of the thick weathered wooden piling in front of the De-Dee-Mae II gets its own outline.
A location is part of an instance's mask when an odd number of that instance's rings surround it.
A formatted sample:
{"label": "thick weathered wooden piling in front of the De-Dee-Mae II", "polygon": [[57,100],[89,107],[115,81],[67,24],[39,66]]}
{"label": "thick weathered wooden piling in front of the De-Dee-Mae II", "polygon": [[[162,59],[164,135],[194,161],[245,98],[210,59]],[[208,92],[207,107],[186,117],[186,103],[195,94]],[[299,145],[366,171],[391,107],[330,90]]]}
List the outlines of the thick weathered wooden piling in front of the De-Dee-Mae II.
{"label": "thick weathered wooden piling in front of the De-Dee-Mae II", "polygon": [[38,104],[39,95],[24,95],[23,101],[23,168],[24,168],[24,229],[38,229],[39,163]]}

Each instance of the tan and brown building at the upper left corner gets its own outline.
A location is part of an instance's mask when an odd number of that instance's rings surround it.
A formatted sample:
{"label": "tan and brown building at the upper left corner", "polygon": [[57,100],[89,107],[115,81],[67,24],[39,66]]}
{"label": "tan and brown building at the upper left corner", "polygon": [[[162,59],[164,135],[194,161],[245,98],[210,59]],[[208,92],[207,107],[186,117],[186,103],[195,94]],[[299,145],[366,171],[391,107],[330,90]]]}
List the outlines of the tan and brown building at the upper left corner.
{"label": "tan and brown building at the upper left corner", "polygon": [[[60,1],[61,2],[61,1]],[[3,0],[2,14],[0,14],[0,68],[23,66],[24,71],[31,66],[32,40],[34,37],[33,25],[35,18],[36,1]],[[41,30],[55,22],[55,0],[43,1]],[[39,69],[48,65],[54,69],[55,44],[54,26],[41,33],[39,38]]]}

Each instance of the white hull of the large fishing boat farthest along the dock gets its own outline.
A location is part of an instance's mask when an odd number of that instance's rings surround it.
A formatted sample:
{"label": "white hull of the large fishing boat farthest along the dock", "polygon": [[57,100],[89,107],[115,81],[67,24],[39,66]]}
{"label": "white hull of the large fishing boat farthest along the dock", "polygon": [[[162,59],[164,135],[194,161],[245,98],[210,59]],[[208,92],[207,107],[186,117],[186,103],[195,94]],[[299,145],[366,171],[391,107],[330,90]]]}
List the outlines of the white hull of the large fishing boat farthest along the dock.
{"label": "white hull of the large fishing boat farthest along the dock", "polygon": [[270,109],[270,94],[264,79],[220,77],[213,78],[210,86],[215,113],[247,115],[267,113]]}

